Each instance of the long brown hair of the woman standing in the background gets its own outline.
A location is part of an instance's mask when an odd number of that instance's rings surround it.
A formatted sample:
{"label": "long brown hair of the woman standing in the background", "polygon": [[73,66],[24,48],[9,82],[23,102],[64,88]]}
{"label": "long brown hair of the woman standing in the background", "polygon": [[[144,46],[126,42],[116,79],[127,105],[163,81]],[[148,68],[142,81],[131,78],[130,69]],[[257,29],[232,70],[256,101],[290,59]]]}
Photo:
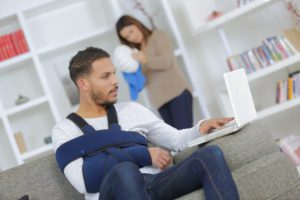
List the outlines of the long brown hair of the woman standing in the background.
{"label": "long brown hair of the woman standing in the background", "polygon": [[144,36],[144,40],[147,43],[148,38],[150,37],[150,35],[152,34],[152,31],[150,29],[148,29],[144,24],[142,24],[139,20],[135,19],[134,17],[131,17],[129,15],[123,15],[122,17],[120,17],[120,19],[117,21],[116,23],[116,30],[117,30],[117,34],[119,37],[119,40],[122,44],[125,44],[127,46],[133,47],[133,48],[137,48],[137,49],[141,49],[140,44],[134,44],[131,42],[128,42],[125,38],[123,38],[120,34],[121,30],[126,27],[126,26],[130,26],[130,25],[135,25],[137,26],[137,28],[142,32],[143,36]]}

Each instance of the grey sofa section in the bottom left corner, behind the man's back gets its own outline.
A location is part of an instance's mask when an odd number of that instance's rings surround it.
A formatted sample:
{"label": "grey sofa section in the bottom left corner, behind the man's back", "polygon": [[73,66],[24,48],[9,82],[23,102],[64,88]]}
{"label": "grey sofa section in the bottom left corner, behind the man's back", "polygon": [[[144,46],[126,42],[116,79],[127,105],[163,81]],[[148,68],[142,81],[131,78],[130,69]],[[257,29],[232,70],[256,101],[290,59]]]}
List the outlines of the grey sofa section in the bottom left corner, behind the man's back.
{"label": "grey sofa section in the bottom left corner, behind the man's back", "polygon": [[54,154],[0,173],[0,199],[84,199],[58,170]]}

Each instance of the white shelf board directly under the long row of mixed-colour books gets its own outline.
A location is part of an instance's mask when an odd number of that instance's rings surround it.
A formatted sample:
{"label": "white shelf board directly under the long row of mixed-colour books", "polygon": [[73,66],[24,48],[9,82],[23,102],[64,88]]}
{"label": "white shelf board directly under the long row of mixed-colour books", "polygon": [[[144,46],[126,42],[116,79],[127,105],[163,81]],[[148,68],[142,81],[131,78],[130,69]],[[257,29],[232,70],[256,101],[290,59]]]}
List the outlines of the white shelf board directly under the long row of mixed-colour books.
{"label": "white shelf board directly under the long row of mixed-colour books", "polygon": [[254,81],[256,79],[259,79],[259,78],[262,78],[264,76],[267,76],[271,73],[274,73],[276,71],[279,71],[281,69],[284,69],[286,67],[289,67],[293,64],[296,64],[300,62],[300,53],[297,53],[296,55],[290,57],[290,58],[287,58],[285,60],[282,60],[274,65],[271,65],[271,66],[268,66],[264,69],[261,69],[261,70],[258,70],[256,72],[254,72],[253,74],[249,74],[247,77],[248,77],[248,81],[251,82],[251,81]]}

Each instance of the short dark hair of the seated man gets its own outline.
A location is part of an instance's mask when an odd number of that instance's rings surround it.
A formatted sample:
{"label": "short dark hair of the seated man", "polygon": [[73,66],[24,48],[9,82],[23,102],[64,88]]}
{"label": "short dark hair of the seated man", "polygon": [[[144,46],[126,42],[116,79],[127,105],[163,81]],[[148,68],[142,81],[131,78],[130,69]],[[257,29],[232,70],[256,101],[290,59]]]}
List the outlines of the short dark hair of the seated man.
{"label": "short dark hair of the seated man", "polygon": [[87,47],[84,50],[78,51],[69,63],[69,73],[72,81],[77,86],[76,80],[79,77],[89,75],[92,72],[92,63],[95,60],[109,57],[110,55],[106,51],[96,47]]}

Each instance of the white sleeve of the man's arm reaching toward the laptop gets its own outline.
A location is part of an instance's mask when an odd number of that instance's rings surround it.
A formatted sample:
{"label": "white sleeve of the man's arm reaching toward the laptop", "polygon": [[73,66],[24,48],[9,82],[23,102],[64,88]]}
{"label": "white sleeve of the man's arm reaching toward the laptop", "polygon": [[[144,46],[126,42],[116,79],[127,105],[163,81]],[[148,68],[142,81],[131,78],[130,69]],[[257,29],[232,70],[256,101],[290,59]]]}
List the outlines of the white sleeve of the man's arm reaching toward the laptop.
{"label": "white sleeve of the man's arm reaching toward the laptop", "polygon": [[200,137],[199,121],[194,127],[178,130],[166,124],[150,110],[136,103],[139,116],[136,117],[136,131],[140,131],[147,139],[160,147],[171,151],[182,151],[188,147],[188,142]]}

